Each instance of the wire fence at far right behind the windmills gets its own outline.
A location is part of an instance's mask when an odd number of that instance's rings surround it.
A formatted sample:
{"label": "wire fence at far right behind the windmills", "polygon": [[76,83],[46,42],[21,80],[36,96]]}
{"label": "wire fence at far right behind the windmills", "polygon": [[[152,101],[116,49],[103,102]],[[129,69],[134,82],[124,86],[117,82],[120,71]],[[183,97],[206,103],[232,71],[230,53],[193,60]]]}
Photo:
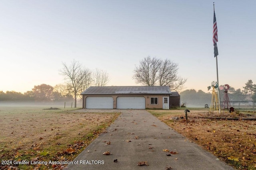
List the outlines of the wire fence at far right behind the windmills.
{"label": "wire fence at far right behind the windmills", "polygon": [[[222,102],[220,102],[220,106],[222,106]],[[234,107],[234,109],[238,109],[238,111],[255,111],[256,102],[254,101],[229,101],[230,107]]]}

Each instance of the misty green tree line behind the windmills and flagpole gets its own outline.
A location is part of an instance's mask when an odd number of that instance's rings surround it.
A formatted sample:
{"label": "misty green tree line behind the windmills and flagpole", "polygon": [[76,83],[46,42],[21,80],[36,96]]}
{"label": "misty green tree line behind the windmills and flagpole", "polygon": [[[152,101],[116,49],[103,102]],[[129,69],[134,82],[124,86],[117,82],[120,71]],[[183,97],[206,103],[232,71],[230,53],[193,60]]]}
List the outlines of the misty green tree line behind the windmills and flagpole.
{"label": "misty green tree line behind the windmills and flagpole", "polygon": [[[231,101],[247,101],[254,100],[256,101],[256,84],[253,84],[252,80],[248,80],[243,87],[244,90],[240,88],[235,89],[230,86],[228,90],[228,98]],[[224,98],[224,89],[220,90],[220,102]],[[189,107],[203,107],[204,104],[211,103],[212,92],[205,93],[202,90],[184,90],[180,92],[180,102]]]}

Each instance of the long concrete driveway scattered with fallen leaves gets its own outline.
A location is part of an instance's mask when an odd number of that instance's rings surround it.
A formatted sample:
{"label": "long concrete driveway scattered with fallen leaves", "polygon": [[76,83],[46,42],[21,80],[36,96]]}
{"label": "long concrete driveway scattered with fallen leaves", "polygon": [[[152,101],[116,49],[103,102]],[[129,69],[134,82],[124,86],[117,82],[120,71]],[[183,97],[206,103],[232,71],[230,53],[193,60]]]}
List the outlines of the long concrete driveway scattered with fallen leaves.
{"label": "long concrete driveway scattered with fallen leaves", "polygon": [[[81,111],[100,110],[82,109]],[[69,170],[234,170],[195,143],[172,130],[146,110],[121,111],[121,115],[66,168]],[[110,144],[109,144],[110,142]],[[109,145],[108,145],[108,144]],[[168,149],[178,154],[170,154]],[[103,154],[110,151],[110,155]],[[114,160],[117,159],[117,162]],[[138,166],[146,161],[148,166]],[[145,163],[145,162],[144,162]]]}

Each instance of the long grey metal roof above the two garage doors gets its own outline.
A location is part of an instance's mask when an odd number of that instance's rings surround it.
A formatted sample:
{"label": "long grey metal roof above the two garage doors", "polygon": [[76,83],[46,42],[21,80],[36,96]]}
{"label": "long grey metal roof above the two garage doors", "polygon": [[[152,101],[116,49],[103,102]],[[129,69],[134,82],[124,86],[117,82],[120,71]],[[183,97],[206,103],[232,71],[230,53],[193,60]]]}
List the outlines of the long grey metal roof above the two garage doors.
{"label": "long grey metal roof above the two garage doors", "polygon": [[91,86],[81,94],[172,94],[168,86]]}

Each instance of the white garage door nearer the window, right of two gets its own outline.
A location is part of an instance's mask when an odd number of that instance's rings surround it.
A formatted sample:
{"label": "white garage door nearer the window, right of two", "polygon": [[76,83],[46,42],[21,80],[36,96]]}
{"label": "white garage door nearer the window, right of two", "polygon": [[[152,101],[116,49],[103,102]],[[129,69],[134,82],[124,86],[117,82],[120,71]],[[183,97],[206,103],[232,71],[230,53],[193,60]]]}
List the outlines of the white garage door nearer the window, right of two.
{"label": "white garage door nearer the window, right of two", "polygon": [[145,109],[144,97],[118,97],[116,99],[117,109]]}

